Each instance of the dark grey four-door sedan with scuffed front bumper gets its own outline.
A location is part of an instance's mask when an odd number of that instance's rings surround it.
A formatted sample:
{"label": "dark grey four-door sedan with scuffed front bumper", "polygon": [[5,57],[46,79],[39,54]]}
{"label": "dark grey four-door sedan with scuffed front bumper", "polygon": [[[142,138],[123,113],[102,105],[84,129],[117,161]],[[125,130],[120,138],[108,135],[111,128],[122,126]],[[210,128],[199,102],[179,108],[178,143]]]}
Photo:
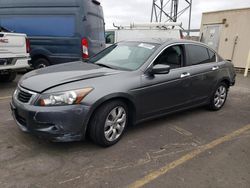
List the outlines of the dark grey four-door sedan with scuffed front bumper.
{"label": "dark grey four-door sedan with scuffed front bumper", "polygon": [[25,132],[53,141],[81,140],[87,133],[111,146],[128,124],[202,105],[221,109],[234,83],[233,65],[202,43],[126,41],[88,63],[27,73],[11,108]]}

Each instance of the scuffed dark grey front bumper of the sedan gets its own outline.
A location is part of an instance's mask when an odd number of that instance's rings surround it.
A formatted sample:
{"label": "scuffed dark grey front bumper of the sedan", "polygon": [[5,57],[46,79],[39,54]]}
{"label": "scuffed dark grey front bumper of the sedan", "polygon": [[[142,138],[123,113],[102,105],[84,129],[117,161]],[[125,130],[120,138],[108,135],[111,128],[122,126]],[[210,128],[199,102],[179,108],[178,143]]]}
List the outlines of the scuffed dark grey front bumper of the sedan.
{"label": "scuffed dark grey front bumper of the sedan", "polygon": [[39,107],[13,98],[12,115],[19,128],[55,142],[82,140],[88,122],[89,106]]}

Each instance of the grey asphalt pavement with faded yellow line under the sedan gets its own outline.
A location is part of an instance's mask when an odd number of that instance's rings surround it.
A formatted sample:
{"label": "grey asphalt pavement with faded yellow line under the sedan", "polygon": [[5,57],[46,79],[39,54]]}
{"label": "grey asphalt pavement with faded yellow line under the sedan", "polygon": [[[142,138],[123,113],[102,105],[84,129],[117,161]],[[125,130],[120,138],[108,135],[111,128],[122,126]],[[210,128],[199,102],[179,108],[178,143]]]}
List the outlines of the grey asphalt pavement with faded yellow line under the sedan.
{"label": "grey asphalt pavement with faded yellow line under the sedan", "polygon": [[250,78],[218,112],[204,107],[129,127],[109,148],[23,133],[0,83],[0,187],[250,187]]}

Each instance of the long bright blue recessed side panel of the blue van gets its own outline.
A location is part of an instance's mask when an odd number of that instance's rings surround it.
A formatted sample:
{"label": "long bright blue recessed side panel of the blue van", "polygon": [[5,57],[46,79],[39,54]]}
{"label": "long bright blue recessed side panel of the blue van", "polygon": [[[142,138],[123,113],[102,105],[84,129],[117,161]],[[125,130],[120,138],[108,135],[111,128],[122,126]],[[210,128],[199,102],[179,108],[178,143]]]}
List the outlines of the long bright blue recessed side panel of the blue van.
{"label": "long bright blue recessed side panel of the blue van", "polygon": [[73,15],[2,17],[0,25],[28,36],[72,37],[75,33],[75,17]]}

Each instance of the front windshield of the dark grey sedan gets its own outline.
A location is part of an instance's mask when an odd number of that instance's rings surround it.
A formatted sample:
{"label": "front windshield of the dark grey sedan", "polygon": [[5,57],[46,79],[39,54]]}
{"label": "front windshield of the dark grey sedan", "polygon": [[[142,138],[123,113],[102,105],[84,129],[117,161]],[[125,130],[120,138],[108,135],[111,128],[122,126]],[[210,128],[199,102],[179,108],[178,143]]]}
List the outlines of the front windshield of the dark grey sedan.
{"label": "front windshield of the dark grey sedan", "polygon": [[103,67],[133,71],[141,67],[158,46],[153,43],[120,42],[106,48],[89,62]]}

